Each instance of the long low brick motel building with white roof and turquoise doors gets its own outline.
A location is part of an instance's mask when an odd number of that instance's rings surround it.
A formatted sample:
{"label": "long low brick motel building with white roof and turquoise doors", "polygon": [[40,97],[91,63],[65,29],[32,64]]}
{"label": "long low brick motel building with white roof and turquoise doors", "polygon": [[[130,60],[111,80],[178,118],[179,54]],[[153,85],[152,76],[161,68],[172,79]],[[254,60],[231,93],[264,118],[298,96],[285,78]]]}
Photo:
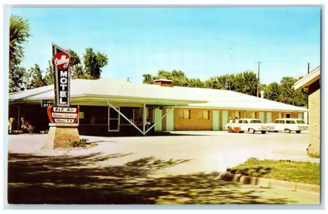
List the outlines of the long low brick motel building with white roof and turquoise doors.
{"label": "long low brick motel building with white roof and turquoise doors", "polygon": [[[79,108],[81,135],[140,134],[162,131],[219,131],[229,117],[257,118],[264,123],[276,118],[304,118],[305,108],[238,92],[173,87],[171,80],[140,84],[118,79],[74,79],[70,105]],[[37,131],[49,130],[47,108],[54,99],[54,85],[9,94],[9,118],[20,130],[21,119]],[[147,120],[152,125],[147,126]],[[153,127],[151,127],[153,126]]]}

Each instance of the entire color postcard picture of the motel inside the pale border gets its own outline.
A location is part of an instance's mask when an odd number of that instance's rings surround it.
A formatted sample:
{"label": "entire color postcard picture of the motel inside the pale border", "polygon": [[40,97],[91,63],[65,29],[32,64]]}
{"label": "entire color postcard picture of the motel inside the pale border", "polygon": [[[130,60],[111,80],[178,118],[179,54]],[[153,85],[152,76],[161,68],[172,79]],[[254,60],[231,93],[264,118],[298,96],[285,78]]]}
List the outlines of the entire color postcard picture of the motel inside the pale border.
{"label": "entire color postcard picture of the motel inside the pale border", "polygon": [[11,8],[8,203],[320,204],[321,13]]}

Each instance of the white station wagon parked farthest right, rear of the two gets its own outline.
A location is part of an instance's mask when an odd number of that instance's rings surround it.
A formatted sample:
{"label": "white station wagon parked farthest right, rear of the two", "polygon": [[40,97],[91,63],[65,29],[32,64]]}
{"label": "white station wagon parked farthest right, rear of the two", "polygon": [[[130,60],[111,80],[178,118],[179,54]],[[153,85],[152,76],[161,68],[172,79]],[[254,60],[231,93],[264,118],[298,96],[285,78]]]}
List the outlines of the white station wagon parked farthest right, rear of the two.
{"label": "white station wagon parked farthest right, rear of the two", "polygon": [[282,131],[291,133],[295,131],[296,133],[301,133],[301,131],[306,131],[309,129],[309,125],[306,124],[304,120],[297,118],[279,118],[275,120],[274,124],[274,132]]}

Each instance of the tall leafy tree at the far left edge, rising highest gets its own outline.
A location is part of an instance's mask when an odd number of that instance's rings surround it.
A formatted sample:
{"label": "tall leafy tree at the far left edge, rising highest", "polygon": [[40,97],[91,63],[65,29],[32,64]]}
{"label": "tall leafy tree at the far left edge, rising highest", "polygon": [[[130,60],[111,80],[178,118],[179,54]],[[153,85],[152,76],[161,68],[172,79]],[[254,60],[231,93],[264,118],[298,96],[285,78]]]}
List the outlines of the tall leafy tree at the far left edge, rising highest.
{"label": "tall leafy tree at the far left edge, rising highest", "polygon": [[23,44],[31,36],[28,20],[11,15],[9,20],[9,92],[25,90],[27,79],[26,70],[19,67],[24,58]]}

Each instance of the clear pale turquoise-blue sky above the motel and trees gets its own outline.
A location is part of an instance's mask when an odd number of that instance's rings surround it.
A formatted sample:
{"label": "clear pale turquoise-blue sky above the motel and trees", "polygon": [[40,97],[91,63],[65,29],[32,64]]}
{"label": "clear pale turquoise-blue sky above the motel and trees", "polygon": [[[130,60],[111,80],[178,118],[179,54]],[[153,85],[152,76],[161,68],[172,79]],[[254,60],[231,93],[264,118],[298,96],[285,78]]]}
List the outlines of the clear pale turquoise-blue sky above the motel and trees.
{"label": "clear pale turquoise-blue sky above the motel and trees", "polygon": [[108,56],[102,78],[142,82],[181,70],[206,80],[252,70],[260,81],[304,76],[320,65],[320,8],[12,8],[28,19],[22,66],[46,71],[51,42]]}

